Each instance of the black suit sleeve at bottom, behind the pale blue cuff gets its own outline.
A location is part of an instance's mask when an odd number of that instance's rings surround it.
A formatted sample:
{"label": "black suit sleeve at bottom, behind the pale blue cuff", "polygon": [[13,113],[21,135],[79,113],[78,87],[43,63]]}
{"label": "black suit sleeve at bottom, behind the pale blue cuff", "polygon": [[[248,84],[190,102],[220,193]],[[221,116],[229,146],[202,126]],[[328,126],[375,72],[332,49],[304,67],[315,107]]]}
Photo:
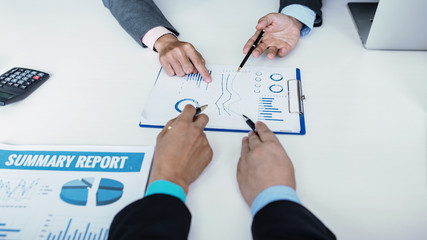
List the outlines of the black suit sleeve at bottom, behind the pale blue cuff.
{"label": "black suit sleeve at bottom, behind the pale blue cuff", "polygon": [[335,235],[302,205],[287,201],[275,201],[255,214],[252,222],[254,240],[336,239]]}

